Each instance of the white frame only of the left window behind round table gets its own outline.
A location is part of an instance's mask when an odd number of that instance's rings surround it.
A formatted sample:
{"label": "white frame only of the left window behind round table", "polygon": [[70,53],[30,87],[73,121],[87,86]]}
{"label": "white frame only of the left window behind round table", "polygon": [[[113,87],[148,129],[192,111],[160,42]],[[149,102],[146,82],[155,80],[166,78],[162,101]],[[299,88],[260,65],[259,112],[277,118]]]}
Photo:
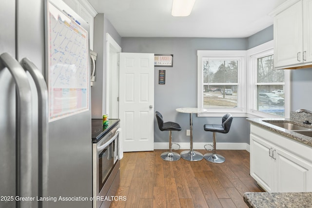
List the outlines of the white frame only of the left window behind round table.
{"label": "white frame only of the left window behind round table", "polygon": [[237,108],[207,108],[206,113],[198,113],[199,117],[220,117],[224,113],[232,113],[236,117],[246,117],[246,51],[197,51],[197,107],[203,106],[203,57],[241,58],[242,66],[237,70]]}

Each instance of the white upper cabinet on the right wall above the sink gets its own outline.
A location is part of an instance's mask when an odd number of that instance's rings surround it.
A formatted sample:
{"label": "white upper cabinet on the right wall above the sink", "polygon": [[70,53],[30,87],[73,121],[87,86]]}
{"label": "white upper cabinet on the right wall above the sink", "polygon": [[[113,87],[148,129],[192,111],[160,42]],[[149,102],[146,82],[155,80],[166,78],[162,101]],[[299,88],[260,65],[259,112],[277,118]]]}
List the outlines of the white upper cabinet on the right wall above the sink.
{"label": "white upper cabinet on the right wall above the sink", "polygon": [[274,67],[312,67],[312,0],[288,0],[272,14]]}

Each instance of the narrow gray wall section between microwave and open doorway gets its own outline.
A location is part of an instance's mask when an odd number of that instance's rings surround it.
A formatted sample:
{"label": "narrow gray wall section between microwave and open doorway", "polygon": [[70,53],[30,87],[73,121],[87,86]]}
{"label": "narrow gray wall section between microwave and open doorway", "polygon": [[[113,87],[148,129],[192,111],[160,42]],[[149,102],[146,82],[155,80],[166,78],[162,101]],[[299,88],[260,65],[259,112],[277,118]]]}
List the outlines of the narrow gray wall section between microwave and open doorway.
{"label": "narrow gray wall section between microwave and open doorway", "polygon": [[104,14],[94,18],[94,51],[98,53],[97,80],[91,87],[92,118],[102,118],[106,103],[106,33],[121,46],[121,37]]}

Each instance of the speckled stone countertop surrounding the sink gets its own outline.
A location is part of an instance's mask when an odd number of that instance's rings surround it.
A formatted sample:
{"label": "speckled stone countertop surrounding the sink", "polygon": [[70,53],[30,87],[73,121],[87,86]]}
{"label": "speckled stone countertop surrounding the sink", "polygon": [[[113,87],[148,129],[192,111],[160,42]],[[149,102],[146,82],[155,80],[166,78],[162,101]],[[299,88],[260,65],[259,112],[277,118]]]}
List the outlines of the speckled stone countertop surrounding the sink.
{"label": "speckled stone countertop surrounding the sink", "polygon": [[[283,136],[289,137],[295,141],[301,142],[303,144],[306,144],[312,147],[312,137],[284,129],[282,127],[275,126],[274,124],[271,124],[270,121],[277,121],[277,122],[287,121],[288,123],[293,123],[299,126],[310,128],[310,129],[312,129],[312,125],[303,124],[302,122],[292,119],[292,118],[247,118],[247,120],[250,123],[255,124],[259,127],[265,128],[275,133],[279,133]],[[266,121],[269,121],[269,122],[266,122]]]}

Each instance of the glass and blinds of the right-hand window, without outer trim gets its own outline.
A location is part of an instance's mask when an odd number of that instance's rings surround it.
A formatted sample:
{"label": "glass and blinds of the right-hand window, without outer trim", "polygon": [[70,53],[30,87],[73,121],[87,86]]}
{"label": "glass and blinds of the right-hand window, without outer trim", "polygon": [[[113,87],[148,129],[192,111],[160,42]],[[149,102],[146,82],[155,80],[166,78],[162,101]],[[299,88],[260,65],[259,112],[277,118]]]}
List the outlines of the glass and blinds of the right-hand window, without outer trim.
{"label": "glass and blinds of the right-hand window, without outer trim", "polygon": [[254,57],[254,110],[284,117],[284,70],[274,69],[273,51],[270,55]]}

